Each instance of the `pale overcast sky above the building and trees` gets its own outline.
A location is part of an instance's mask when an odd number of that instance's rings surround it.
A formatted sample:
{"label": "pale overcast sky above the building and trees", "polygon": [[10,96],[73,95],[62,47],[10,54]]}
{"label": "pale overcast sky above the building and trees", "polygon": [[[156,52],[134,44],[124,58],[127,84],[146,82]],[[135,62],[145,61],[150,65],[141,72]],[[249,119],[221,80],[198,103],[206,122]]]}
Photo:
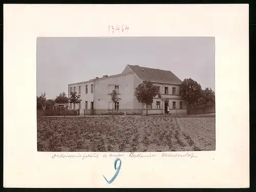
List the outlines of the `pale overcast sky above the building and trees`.
{"label": "pale overcast sky above the building and trees", "polygon": [[115,75],[126,65],[172,71],[215,90],[214,37],[37,39],[37,95],[54,99],[68,84]]}

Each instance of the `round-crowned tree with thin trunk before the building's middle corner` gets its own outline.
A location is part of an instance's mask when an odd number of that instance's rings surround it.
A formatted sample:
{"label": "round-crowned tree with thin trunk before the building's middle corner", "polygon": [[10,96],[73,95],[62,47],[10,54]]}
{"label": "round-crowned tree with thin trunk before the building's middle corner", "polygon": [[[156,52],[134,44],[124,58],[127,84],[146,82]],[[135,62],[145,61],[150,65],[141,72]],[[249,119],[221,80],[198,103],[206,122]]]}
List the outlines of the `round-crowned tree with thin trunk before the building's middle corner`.
{"label": "round-crowned tree with thin trunk before the building's middle corner", "polygon": [[134,96],[142,104],[146,104],[146,115],[148,115],[147,109],[148,104],[153,103],[153,98],[159,93],[159,87],[154,86],[151,81],[144,80],[138,87],[135,89]]}

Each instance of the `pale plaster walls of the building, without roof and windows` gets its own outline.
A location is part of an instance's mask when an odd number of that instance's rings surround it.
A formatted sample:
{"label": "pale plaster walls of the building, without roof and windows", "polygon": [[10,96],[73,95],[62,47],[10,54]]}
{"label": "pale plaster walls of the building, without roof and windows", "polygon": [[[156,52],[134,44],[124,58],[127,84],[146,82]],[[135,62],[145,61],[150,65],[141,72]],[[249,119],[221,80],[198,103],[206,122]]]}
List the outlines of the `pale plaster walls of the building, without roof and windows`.
{"label": "pale plaster walls of the building, without roof and windows", "polygon": [[[142,82],[142,80],[134,73],[131,73],[130,68],[125,68],[125,73],[114,75],[106,78],[99,78],[91,81],[70,84],[68,87],[70,97],[70,87],[72,92],[76,87],[78,93],[78,87],[81,86],[81,109],[80,114],[83,114],[83,110],[88,101],[88,109],[91,109],[91,102],[94,101],[94,109],[112,109],[112,101],[110,94],[115,86],[119,86],[119,109],[141,109],[142,103],[139,103],[137,98],[134,96],[135,88]],[[91,84],[94,84],[94,92],[91,93]],[[186,103],[183,98],[179,95],[179,86],[167,85],[161,83],[154,83],[156,86],[160,86],[160,93],[163,93],[163,98],[169,99],[169,109],[173,109],[173,101],[176,101],[177,111],[182,112],[186,110]],[[86,85],[88,85],[88,93],[86,94]],[[164,87],[168,87],[168,94],[164,94]],[[176,87],[176,94],[173,95],[172,88]],[[164,109],[164,103],[156,96],[152,103],[152,109],[156,109],[156,102],[160,101],[160,109]],[[180,101],[183,102],[183,110],[180,110]],[[78,104],[76,108],[78,109]],[[73,109],[73,106],[72,106]],[[143,105],[143,109],[146,109],[146,105]],[[176,113],[176,110],[175,110]]]}

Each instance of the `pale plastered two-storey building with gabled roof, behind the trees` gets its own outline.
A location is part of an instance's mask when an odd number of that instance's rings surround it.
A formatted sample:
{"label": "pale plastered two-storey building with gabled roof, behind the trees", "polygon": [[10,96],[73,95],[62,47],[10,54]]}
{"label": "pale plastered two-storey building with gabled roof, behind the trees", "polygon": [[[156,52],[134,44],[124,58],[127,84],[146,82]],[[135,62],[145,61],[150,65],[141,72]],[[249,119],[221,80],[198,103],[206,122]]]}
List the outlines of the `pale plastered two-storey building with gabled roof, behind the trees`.
{"label": "pale plastered two-storey building with gabled roof, behind the trees", "polygon": [[[156,96],[152,105],[149,106],[148,114],[163,113],[167,105],[171,113],[186,113],[185,101],[180,96],[179,90],[182,81],[177,76],[170,71],[137,65],[127,65],[121,74],[103,75],[88,81],[69,84],[69,95],[70,92],[77,92],[82,100],[79,105],[70,105],[70,109],[80,109],[80,114],[83,114],[84,109],[112,109],[113,103],[108,95],[112,90],[117,90],[121,98],[118,103],[115,103],[115,109],[141,109],[142,103],[137,101],[134,92],[145,79],[159,86],[162,97],[169,99],[169,103],[164,104]],[[146,108],[145,104],[143,108]]]}

